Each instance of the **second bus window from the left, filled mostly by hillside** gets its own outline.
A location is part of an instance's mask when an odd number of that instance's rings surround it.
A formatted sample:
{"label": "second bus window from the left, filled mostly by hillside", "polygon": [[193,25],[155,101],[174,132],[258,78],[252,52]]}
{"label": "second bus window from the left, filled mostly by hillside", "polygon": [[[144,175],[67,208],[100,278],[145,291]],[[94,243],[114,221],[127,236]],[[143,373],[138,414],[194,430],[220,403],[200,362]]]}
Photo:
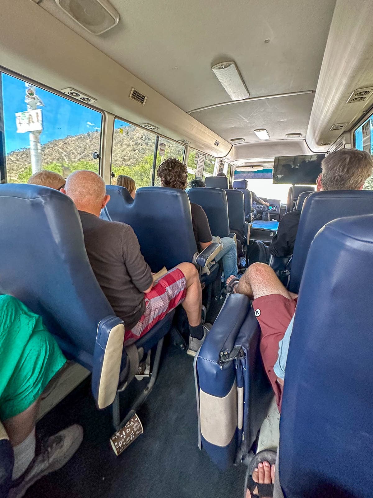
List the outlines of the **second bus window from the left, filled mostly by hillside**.
{"label": "second bus window from the left, filled mostly by hillside", "polygon": [[152,184],[154,148],[157,135],[144,128],[114,121],[111,172],[135,180],[136,188]]}

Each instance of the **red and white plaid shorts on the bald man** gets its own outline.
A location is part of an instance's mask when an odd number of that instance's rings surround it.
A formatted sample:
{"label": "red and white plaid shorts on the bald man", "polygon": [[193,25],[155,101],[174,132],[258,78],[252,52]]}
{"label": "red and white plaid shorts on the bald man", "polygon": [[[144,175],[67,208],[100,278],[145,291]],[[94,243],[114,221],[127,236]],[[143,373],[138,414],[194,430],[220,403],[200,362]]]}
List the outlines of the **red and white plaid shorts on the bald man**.
{"label": "red and white plaid shorts on the bald man", "polygon": [[144,294],[145,313],[132,330],[124,334],[124,346],[134,343],[167,313],[175,309],[185,299],[187,280],[179,268],[173,268],[160,278],[150,292]]}

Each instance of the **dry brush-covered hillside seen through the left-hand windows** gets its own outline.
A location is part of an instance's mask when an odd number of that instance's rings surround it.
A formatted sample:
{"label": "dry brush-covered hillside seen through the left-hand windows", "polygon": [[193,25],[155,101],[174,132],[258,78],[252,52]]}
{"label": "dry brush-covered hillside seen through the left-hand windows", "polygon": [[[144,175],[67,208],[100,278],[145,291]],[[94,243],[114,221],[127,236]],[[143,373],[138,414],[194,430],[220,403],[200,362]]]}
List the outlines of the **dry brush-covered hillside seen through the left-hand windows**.
{"label": "dry brush-covered hillside seen through the left-hand windows", "polygon": [[[112,172],[115,175],[131,176],[137,187],[150,185],[155,138],[154,134],[132,125],[115,129]],[[166,144],[164,157],[177,157],[183,160],[184,146],[163,138],[160,138],[160,142]],[[42,167],[60,173],[65,178],[78,169],[98,172],[98,160],[93,159],[93,152],[99,150],[99,131],[88,131],[52,140],[41,146]],[[164,157],[158,155],[157,166]],[[189,162],[190,167],[194,168],[194,154],[190,155]],[[7,154],[6,171],[9,183],[25,183],[31,176],[30,149],[24,148]],[[188,174],[188,177],[191,179],[193,175]]]}

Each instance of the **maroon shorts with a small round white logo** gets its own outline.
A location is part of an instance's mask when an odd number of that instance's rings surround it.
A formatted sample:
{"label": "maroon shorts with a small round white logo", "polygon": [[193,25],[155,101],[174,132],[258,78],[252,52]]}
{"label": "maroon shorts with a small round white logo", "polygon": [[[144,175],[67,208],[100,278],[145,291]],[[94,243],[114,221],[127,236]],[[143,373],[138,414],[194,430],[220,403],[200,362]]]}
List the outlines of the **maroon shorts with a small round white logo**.
{"label": "maroon shorts with a small round white logo", "polygon": [[279,357],[279,342],[295,313],[296,301],[296,298],[288,299],[281,294],[261,296],[253,301],[255,316],[261,328],[260,352],[279,409],[282,389],[273,368]]}

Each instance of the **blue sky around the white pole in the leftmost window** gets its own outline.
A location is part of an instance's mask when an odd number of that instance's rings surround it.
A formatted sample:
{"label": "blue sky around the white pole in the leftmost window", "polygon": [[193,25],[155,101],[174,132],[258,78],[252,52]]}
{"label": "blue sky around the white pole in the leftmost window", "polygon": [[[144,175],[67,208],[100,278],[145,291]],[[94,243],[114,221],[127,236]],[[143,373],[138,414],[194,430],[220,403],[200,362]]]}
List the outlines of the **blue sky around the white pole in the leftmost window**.
{"label": "blue sky around the white pole in the leftmost window", "polygon": [[[29,133],[17,133],[15,113],[26,111],[25,84],[22,80],[2,74],[2,99],[4,108],[5,150],[9,152],[29,147]],[[101,113],[88,107],[36,88],[36,95],[43,101],[42,144],[67,135],[78,135],[101,128]]]}

